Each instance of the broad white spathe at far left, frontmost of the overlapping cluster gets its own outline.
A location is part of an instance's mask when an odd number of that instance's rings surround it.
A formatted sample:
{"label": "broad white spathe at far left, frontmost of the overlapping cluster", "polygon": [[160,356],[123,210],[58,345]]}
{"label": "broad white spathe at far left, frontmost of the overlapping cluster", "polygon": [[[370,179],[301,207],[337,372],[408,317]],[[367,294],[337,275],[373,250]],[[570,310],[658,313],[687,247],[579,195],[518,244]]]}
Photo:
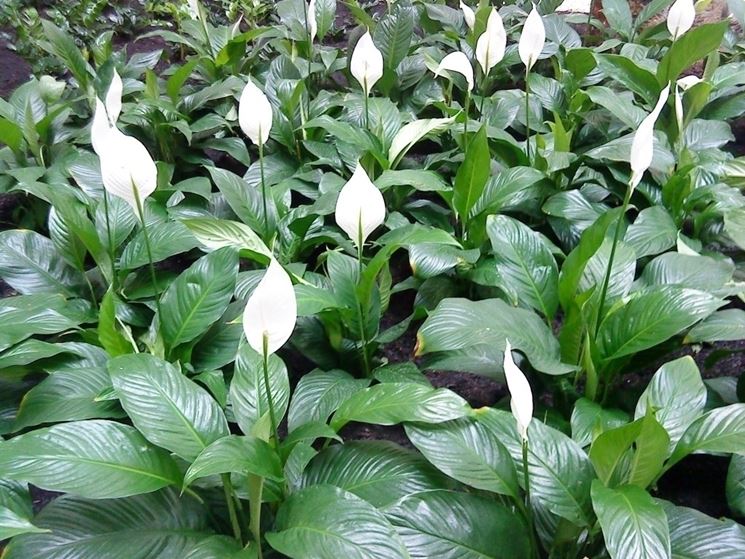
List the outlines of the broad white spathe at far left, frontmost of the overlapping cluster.
{"label": "broad white spathe at far left, frontmost of the overlapping cluster", "polygon": [[145,198],[158,186],[158,169],[153,158],[142,142],[116,127],[109,128],[105,136],[96,141],[104,188],[127,202],[140,217]]}

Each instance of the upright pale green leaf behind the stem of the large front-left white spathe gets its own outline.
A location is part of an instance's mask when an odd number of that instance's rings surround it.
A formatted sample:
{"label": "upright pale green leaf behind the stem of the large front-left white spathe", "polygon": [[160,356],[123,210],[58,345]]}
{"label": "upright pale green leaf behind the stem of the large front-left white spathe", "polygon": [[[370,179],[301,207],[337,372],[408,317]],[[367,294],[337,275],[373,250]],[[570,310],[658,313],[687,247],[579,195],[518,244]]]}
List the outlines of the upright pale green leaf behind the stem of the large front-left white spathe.
{"label": "upright pale green leaf behind the stem of the large front-left white spathe", "polygon": [[[230,383],[230,401],[238,425],[246,435],[265,438],[269,435],[269,399],[264,385],[264,358],[244,343],[238,349],[235,371]],[[290,381],[287,368],[276,355],[269,356],[269,388],[272,403],[281,421],[290,401]]]}

